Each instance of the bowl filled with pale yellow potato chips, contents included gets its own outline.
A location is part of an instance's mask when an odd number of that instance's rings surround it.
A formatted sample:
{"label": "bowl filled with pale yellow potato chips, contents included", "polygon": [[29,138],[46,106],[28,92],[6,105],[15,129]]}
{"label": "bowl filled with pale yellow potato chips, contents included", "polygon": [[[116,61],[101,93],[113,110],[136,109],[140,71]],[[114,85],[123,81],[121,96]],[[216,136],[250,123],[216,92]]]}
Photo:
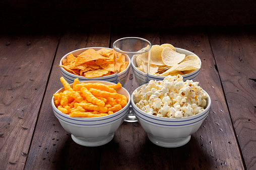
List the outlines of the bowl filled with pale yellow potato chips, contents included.
{"label": "bowl filled with pale yellow potato chips, contents included", "polygon": [[148,75],[147,59],[142,55],[132,58],[132,68],[137,82],[142,82],[144,79],[160,81],[168,75],[178,74],[183,77],[183,81],[195,81],[200,73],[201,64],[196,54],[181,48],[174,48],[171,44],[152,46]]}

